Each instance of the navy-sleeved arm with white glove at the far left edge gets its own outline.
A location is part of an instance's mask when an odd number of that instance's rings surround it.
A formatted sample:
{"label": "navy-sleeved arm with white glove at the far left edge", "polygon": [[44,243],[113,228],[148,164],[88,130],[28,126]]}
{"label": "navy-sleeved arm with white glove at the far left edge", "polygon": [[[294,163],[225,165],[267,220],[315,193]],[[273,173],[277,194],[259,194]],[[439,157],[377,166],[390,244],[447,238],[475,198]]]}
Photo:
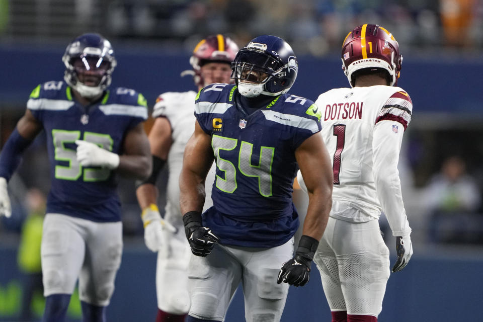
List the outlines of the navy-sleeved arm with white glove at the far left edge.
{"label": "navy-sleeved arm with white glove at the far left edge", "polygon": [[42,125],[26,110],[0,153],[0,216],[12,214],[8,182],[20,164],[22,153],[41,130]]}

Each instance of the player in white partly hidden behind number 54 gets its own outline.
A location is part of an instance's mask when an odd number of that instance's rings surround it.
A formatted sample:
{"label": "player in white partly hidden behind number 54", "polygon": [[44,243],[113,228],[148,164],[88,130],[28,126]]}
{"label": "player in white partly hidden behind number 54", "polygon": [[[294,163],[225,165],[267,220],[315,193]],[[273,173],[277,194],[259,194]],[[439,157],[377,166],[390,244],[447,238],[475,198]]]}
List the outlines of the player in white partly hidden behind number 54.
{"label": "player in white partly hidden behind number 54", "polygon": [[[198,87],[213,83],[230,83],[231,61],[238,46],[228,37],[212,35],[201,40],[193,51],[191,73]],[[196,92],[168,92],[159,95],[152,113],[154,125],[149,132],[153,159],[151,177],[142,183],[136,195],[142,209],[144,240],[147,248],[158,252],[156,266],[156,294],[158,312],[156,322],[184,321],[190,308],[187,269],[190,247],[186,240],[180,212],[178,178],[183,152],[195,129]],[[165,217],[161,218],[156,206],[158,189],[155,186],[159,171],[168,163],[169,179]],[[210,171],[214,181],[214,167]],[[206,186],[205,209],[212,205],[211,185]]]}

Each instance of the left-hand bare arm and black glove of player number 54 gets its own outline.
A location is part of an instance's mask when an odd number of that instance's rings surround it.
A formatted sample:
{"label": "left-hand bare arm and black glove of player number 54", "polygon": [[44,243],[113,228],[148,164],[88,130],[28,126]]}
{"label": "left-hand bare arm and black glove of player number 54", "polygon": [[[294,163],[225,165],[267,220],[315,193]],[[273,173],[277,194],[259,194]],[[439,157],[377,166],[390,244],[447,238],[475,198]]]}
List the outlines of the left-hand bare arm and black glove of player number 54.
{"label": "left-hand bare arm and black glove of player number 54", "polygon": [[183,168],[180,175],[180,207],[183,214],[185,233],[191,252],[196,256],[207,256],[219,238],[210,228],[204,227],[201,211],[205,202],[205,179],[213,164],[211,137],[200,127],[195,131],[185,147]]}

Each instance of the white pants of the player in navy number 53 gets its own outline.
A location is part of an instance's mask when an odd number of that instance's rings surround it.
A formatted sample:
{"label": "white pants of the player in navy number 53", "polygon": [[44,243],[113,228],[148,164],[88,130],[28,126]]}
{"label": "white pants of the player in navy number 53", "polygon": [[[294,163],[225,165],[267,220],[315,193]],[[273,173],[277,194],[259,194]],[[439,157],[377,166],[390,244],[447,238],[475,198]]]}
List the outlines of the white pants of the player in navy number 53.
{"label": "white pants of the player in navy number 53", "polygon": [[78,277],[81,301],[107,306],[121,265],[122,223],[47,213],[41,256],[44,296],[72,294]]}

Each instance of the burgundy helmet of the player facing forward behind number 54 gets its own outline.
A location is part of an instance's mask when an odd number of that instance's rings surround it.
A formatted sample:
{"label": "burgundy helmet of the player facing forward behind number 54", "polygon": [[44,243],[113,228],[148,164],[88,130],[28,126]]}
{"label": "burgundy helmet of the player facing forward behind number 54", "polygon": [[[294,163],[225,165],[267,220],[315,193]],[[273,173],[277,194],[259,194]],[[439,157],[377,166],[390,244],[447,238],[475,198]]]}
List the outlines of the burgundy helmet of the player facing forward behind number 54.
{"label": "burgundy helmet of the player facing forward behind number 54", "polygon": [[[208,62],[224,62],[231,64],[238,52],[238,46],[230,38],[223,35],[211,35],[201,40],[193,50],[190,64],[194,70],[196,86],[205,86],[201,75],[201,66]],[[182,74],[183,75],[183,74]]]}

